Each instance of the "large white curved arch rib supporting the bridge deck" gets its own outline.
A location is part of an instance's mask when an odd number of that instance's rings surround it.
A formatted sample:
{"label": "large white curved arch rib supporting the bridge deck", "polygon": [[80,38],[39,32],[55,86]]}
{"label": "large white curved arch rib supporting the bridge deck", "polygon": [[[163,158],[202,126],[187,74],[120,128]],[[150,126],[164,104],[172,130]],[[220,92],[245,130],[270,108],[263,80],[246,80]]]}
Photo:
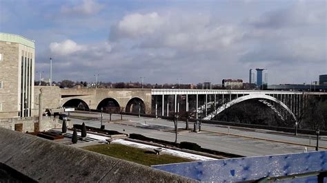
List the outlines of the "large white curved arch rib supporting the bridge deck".
{"label": "large white curved arch rib supporting the bridge deck", "polygon": [[[285,105],[284,103],[282,103],[281,100],[278,100],[277,98],[275,98],[273,96],[268,96],[268,95],[265,95],[265,94],[250,94],[250,95],[247,95],[247,96],[241,96],[239,98],[235,98],[234,100],[230,101],[229,103],[226,103],[226,104],[222,105],[221,107],[219,107],[216,111],[213,111],[211,114],[209,114],[208,116],[206,116],[204,118],[204,120],[210,120],[213,117],[215,117],[218,114],[220,114],[225,109],[228,109],[228,107],[231,107],[232,105],[235,105],[237,103],[241,103],[241,102],[243,102],[245,100],[251,100],[251,99],[266,99],[266,100],[273,101],[273,102],[281,105],[281,107],[283,107],[284,109],[286,109],[286,111],[288,111],[288,113],[293,117],[293,119],[295,121],[297,121],[297,118],[295,117],[295,115],[293,114],[293,112],[290,110],[290,108],[287,107],[287,105]],[[274,109],[274,111],[277,112],[275,109]],[[281,116],[281,114],[279,114],[278,112],[277,112],[277,114],[279,116]]]}

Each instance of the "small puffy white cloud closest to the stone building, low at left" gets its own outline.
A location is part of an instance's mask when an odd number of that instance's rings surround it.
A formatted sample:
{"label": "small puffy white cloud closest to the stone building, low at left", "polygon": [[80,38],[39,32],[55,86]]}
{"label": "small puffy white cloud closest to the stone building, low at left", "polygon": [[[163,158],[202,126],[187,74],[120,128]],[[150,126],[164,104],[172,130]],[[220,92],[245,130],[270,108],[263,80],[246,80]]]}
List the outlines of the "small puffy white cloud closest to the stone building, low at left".
{"label": "small puffy white cloud closest to the stone building, low at left", "polygon": [[49,48],[53,54],[58,54],[61,56],[69,55],[81,50],[86,50],[85,45],[78,45],[77,43],[75,43],[75,41],[72,41],[70,39],[62,41],[61,43],[50,43]]}

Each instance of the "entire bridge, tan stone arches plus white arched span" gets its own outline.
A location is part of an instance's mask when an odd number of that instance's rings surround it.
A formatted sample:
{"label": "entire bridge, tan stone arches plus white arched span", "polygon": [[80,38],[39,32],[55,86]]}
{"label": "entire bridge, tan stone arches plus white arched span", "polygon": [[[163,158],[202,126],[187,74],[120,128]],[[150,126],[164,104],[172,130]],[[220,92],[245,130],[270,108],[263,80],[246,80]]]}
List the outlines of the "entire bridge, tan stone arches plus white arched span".
{"label": "entire bridge, tan stone arches plus white arched span", "polygon": [[[210,120],[224,109],[246,100],[258,100],[282,119],[295,120],[308,96],[324,92],[259,91],[228,89],[61,89],[61,106],[101,109],[123,107],[126,112],[168,116],[171,112],[197,111],[196,118]],[[201,115],[200,115],[201,114]]]}

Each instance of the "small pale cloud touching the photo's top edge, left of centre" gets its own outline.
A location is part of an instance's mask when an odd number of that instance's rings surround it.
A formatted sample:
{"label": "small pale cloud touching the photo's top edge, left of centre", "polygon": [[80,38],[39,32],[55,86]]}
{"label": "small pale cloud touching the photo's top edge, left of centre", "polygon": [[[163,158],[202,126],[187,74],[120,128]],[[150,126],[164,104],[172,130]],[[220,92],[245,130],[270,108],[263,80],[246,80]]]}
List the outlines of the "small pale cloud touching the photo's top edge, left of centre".
{"label": "small pale cloud touching the photo's top edge, left of centre", "polygon": [[94,0],[83,0],[81,4],[77,6],[63,6],[61,7],[61,12],[64,14],[97,14],[100,10],[103,9],[103,5],[97,3]]}

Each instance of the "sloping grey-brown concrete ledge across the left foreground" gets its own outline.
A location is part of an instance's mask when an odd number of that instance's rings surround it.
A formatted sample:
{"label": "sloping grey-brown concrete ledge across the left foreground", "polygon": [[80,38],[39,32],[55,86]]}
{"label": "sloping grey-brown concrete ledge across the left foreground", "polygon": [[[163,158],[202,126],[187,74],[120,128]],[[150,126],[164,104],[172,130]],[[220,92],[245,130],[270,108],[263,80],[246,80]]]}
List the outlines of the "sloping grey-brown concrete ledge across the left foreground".
{"label": "sloping grey-brown concrete ledge across the left foreground", "polygon": [[196,182],[3,128],[0,154],[0,163],[38,182]]}

